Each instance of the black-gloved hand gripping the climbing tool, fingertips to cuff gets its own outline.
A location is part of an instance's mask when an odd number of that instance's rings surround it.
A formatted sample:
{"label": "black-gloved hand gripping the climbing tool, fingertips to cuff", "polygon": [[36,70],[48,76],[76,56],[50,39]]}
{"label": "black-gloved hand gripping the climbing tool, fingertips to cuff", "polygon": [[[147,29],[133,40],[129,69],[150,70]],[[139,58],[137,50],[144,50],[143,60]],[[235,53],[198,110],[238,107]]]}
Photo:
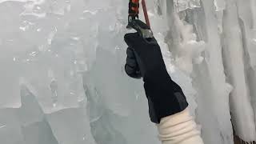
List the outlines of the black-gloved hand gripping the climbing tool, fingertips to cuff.
{"label": "black-gloved hand gripping the climbing tool, fingertips to cuff", "polygon": [[156,39],[145,39],[141,35],[137,32],[126,34],[124,37],[128,45],[126,74],[132,78],[143,78],[150,119],[160,123],[161,118],[185,110],[188,103],[181,87],[172,81],[167,73]]}

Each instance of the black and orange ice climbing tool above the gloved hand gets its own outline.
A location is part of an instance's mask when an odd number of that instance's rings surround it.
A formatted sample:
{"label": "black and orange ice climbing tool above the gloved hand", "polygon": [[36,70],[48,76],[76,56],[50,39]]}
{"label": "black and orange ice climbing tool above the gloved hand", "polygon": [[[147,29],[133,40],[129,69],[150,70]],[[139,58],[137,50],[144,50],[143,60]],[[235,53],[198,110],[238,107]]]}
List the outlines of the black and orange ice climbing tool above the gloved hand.
{"label": "black and orange ice climbing tool above the gloved hand", "polygon": [[142,9],[146,20],[146,26],[138,18],[139,13],[139,0],[130,0],[129,2],[129,15],[127,29],[135,29],[142,38],[153,38],[153,32],[150,29],[150,19],[146,10],[146,2],[142,0]]}

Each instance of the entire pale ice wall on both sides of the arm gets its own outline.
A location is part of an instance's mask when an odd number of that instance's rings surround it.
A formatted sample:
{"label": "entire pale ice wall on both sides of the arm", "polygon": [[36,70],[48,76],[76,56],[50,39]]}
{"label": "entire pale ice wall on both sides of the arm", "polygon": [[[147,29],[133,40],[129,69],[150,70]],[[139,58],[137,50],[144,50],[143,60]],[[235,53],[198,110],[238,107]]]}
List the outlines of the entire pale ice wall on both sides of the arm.
{"label": "entire pale ice wall on both sides of the arm", "polygon": [[[255,141],[254,0],[146,1],[206,144]],[[128,2],[0,0],[0,142],[160,143],[123,70]],[[142,16],[141,16],[142,18]]]}

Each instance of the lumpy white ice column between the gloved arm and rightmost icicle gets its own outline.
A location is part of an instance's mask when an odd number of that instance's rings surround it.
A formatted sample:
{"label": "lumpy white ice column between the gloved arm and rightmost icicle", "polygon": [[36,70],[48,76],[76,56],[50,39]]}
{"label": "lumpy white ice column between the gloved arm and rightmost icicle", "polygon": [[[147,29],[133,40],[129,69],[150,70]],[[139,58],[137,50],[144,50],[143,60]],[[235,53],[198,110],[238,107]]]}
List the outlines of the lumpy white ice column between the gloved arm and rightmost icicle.
{"label": "lumpy white ice column between the gloved arm and rightmost icicle", "polygon": [[[167,6],[173,4],[167,1]],[[202,126],[204,142],[233,143],[230,86],[226,83],[222,65],[222,46],[218,21],[214,17],[214,2],[204,1],[201,7],[180,11],[179,17],[175,9],[167,13],[170,31],[166,41],[176,58],[176,66],[186,70],[197,91],[194,94],[198,104],[196,114]],[[184,61],[184,58],[190,59]]]}

